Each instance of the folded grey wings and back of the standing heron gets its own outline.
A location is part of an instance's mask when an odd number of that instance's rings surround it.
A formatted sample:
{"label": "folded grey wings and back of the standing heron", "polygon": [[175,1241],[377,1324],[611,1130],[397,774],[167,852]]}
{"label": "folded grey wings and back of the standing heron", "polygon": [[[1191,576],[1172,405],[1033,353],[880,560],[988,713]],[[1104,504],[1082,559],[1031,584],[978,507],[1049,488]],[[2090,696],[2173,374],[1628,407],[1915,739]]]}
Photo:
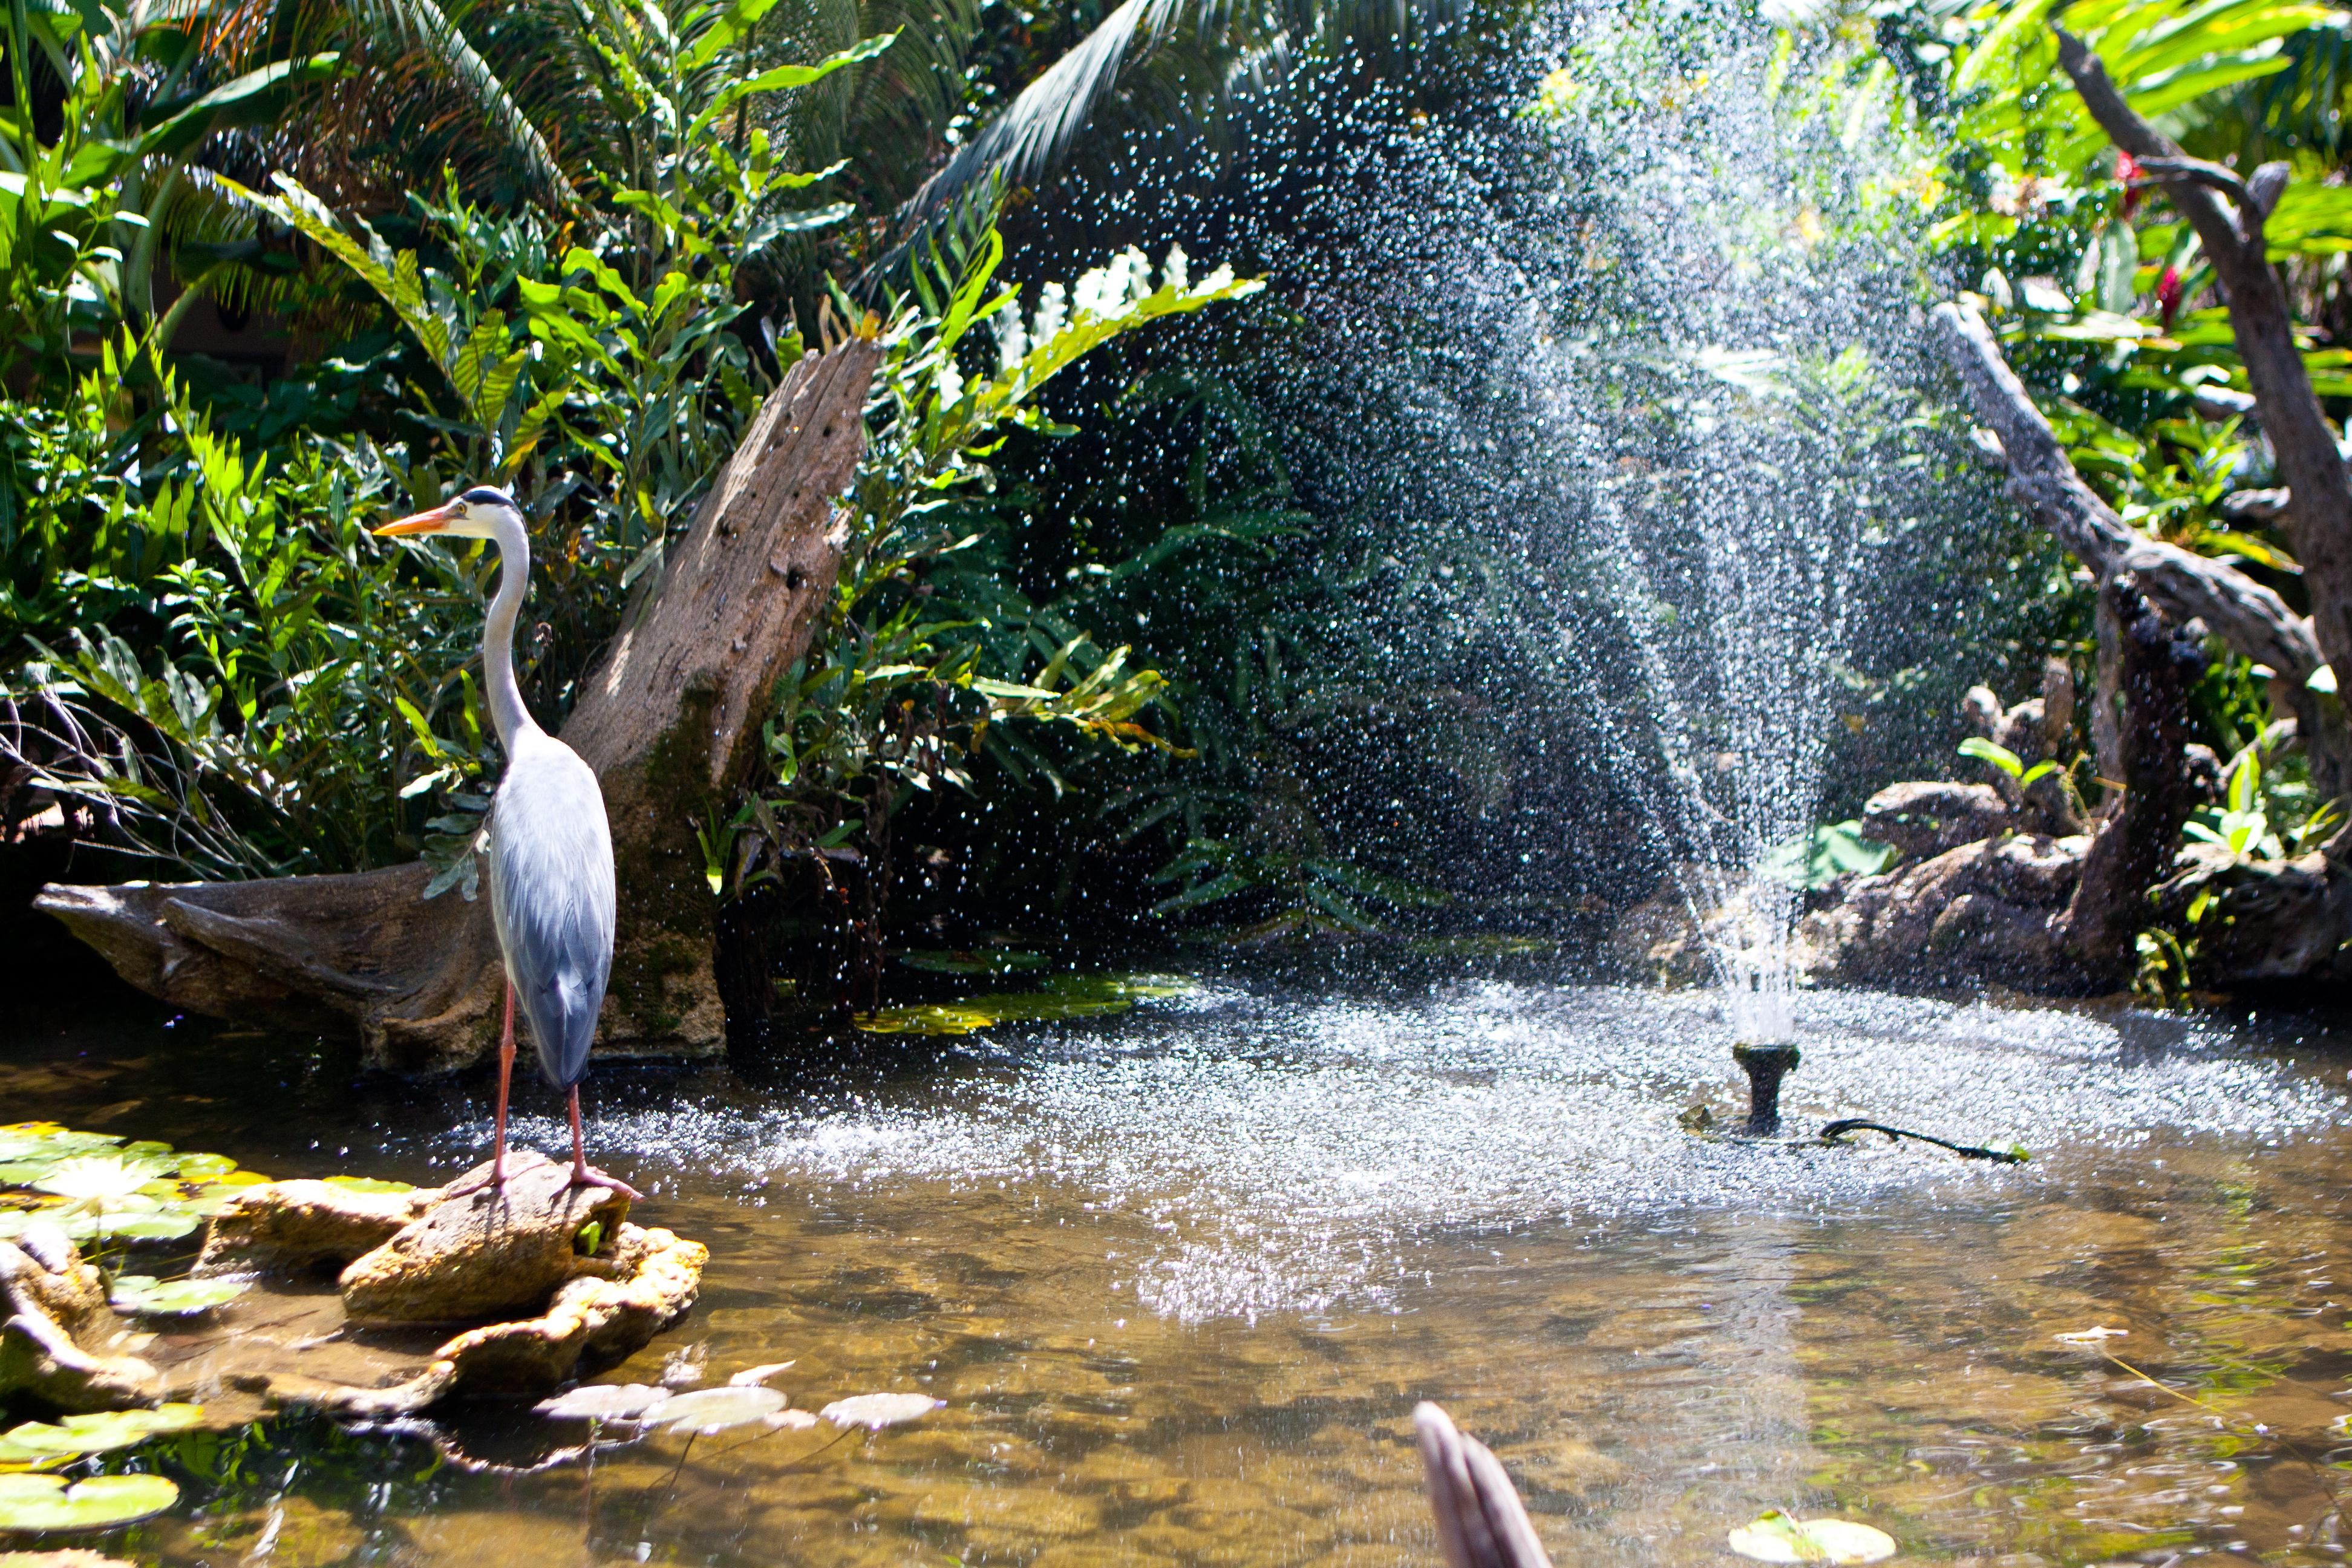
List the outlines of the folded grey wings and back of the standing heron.
{"label": "folded grey wings and back of the standing heron", "polygon": [[499,780],[489,896],[539,1070],[572,1088],[612,976],[612,827],[595,773],[553,736],[520,736]]}

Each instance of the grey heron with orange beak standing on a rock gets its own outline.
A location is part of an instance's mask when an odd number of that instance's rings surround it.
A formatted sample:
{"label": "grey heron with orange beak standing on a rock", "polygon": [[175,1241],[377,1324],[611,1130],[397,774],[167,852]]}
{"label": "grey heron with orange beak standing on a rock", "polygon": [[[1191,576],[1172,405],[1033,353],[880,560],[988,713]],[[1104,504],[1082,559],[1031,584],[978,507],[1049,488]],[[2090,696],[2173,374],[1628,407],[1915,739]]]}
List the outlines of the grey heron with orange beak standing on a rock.
{"label": "grey heron with orange beak standing on a rock", "polygon": [[506,1180],[506,1091],[515,1077],[515,1001],[532,1020],[532,1046],[548,1084],[572,1112],[572,1180],[637,1197],[628,1182],[588,1164],[581,1143],[581,1079],[612,976],[612,825],[595,771],[539,729],[515,684],[515,616],[532,581],[532,541],[513,498],[477,484],[461,496],[388,522],[376,534],[447,534],[499,543],[499,595],[482,623],[482,682],[506,748],[506,776],[489,806],[489,914],[506,957],[506,1023],[499,1034],[499,1152],[485,1185]]}

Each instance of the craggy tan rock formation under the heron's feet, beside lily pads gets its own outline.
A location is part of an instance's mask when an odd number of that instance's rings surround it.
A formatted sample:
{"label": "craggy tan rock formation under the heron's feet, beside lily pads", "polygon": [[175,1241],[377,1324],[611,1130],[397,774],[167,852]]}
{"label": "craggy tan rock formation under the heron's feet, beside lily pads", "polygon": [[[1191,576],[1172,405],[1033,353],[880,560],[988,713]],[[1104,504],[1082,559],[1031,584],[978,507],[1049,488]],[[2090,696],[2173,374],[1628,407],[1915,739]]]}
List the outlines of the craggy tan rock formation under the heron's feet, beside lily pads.
{"label": "craggy tan rock formation under the heron's feet, beside lily pads", "polygon": [[[0,1241],[0,1394],[99,1410],[230,1389],[358,1418],[461,1392],[546,1394],[694,1305],[708,1248],[626,1215],[619,1194],[572,1187],[539,1154],[510,1157],[496,1194],[247,1187],[214,1218],[198,1272],[254,1274],[254,1288],[174,1333],[132,1333],[61,1232],[28,1232]],[[447,1338],[452,1324],[477,1326]]]}

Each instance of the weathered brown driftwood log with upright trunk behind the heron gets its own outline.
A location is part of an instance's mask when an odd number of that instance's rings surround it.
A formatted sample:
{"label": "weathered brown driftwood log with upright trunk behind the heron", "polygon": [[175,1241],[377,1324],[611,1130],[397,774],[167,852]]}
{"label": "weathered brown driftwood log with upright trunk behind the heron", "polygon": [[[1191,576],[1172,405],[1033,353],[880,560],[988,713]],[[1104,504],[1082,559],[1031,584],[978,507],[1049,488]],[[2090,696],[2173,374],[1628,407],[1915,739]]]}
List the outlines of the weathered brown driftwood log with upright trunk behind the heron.
{"label": "weathered brown driftwood log with upright trunk behind the heron", "polygon": [[[581,682],[562,738],[604,785],[621,889],[600,1053],[713,1056],[717,900],[696,825],[748,778],[776,679],[823,625],[866,451],[880,348],[849,339],[786,374],[659,583]],[[423,898],[423,865],[226,884],[52,884],[115,971],[214,1018],[355,1034],[374,1067],[445,1072],[496,1046],[489,900]]]}

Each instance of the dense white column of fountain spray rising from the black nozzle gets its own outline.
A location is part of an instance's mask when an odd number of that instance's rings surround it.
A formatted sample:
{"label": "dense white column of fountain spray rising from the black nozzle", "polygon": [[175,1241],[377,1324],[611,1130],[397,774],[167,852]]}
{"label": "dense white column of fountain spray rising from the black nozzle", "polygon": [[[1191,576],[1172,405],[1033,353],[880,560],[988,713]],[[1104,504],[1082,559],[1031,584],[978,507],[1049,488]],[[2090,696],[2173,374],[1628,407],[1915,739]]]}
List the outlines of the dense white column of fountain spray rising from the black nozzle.
{"label": "dense white column of fountain spray rising from the black nozzle", "polygon": [[1545,106],[1564,167],[1613,174],[1585,186],[1585,249],[1628,313],[1559,334],[1552,447],[1635,651],[1632,679],[1595,670],[1611,759],[1722,987],[1745,1131],[1773,1135],[1802,1060],[1792,945],[1856,583],[1886,505],[1872,430],[1907,402],[1917,320],[1903,226],[1872,221],[1872,190],[1919,148],[1893,96],[1818,113],[1835,73],[1802,87],[1802,61],[1835,52],[1825,35],[1684,16],[1661,54],[1606,21],[1571,28]]}

